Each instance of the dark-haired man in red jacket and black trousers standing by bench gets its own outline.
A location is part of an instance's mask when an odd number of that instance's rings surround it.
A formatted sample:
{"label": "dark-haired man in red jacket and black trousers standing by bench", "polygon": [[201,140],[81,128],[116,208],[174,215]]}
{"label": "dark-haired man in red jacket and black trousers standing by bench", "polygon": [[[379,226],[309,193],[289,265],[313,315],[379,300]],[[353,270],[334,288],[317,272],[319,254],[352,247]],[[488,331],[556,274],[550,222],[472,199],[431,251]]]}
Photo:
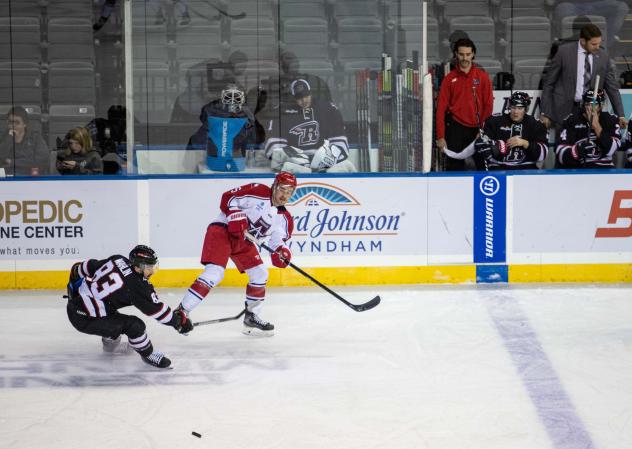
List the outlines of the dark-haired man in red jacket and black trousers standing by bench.
{"label": "dark-haired man in red jacket and black trousers standing by bench", "polygon": [[[436,116],[437,147],[447,156],[447,171],[465,170],[468,156],[463,149],[476,139],[494,103],[489,75],[474,64],[474,42],[459,39],[454,47],[458,65],[441,82]],[[474,162],[477,169],[484,169],[478,154]]]}

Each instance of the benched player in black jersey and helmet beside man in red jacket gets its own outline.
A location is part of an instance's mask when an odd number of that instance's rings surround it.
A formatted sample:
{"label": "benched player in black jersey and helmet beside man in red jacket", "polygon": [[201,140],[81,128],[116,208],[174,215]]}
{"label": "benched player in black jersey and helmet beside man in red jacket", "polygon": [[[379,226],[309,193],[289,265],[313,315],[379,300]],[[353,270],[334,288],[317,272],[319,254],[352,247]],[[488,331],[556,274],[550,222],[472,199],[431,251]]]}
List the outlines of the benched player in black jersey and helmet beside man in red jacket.
{"label": "benched player in black jersey and helmet beside man in red jacket", "polygon": [[514,92],[509,113],[494,114],[485,120],[483,135],[474,141],[474,150],[490,170],[535,169],[548,152],[546,128],[527,115],[529,94]]}

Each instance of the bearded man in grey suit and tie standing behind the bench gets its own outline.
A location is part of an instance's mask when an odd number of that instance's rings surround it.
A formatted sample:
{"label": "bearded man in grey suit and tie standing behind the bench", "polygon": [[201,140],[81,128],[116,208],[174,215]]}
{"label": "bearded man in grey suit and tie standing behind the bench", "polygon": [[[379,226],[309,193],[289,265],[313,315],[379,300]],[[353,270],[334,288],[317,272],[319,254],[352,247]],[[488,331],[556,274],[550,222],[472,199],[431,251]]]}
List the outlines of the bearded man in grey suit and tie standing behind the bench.
{"label": "bearded man in grey suit and tie standing behind the bench", "polygon": [[[599,76],[599,86],[595,82]],[[540,120],[547,128],[559,131],[564,118],[578,109],[587,90],[603,88],[622,128],[627,126],[619,86],[608,53],[601,48],[601,30],[594,24],[584,25],[577,43],[558,49],[542,80]]]}

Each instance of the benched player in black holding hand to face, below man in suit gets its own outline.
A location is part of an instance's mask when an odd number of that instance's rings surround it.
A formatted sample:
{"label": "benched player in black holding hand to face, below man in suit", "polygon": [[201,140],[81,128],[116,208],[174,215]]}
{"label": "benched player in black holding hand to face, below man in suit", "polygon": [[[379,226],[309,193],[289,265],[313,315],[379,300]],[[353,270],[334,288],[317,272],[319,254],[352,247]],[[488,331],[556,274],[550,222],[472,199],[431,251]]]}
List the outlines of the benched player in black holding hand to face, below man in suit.
{"label": "benched player in black holding hand to face, below man in suit", "polygon": [[612,157],[621,145],[619,119],[602,110],[602,89],[584,92],[581,111],[564,119],[555,149],[560,168],[614,168]]}

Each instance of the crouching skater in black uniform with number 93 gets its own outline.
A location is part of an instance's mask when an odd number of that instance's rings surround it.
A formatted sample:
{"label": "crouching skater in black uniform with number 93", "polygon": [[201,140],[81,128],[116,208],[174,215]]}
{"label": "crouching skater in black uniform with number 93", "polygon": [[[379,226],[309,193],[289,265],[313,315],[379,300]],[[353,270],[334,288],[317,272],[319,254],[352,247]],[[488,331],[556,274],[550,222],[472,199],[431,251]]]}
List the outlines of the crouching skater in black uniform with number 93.
{"label": "crouching skater in black uniform with number 93", "polygon": [[68,282],[68,319],[84,334],[99,335],[105,352],[115,352],[125,334],[143,361],[157,368],[171,365],[162,352],[155,351],[145,333],[145,323],[138,317],[119,313],[135,306],[179,333],[193,330],[182,310],[171,308],[158,299],[149,278],[154,274],[158,257],[148,246],[138,245],[129,258],[113,255],[103,260],[89,259],[75,263]]}

